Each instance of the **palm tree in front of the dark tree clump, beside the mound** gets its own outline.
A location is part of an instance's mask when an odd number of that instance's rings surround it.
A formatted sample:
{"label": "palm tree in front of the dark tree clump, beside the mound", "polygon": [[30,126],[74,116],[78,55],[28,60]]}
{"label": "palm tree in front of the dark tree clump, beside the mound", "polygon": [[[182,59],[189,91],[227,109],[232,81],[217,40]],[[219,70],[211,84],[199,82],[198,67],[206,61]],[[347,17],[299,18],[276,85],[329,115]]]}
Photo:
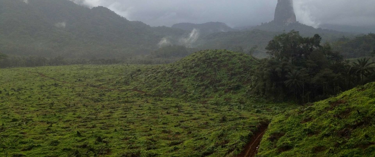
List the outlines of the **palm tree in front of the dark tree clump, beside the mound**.
{"label": "palm tree in front of the dark tree clump, beside the mound", "polygon": [[285,86],[292,89],[294,92],[294,96],[296,97],[297,101],[297,91],[301,89],[303,86],[303,81],[300,79],[300,72],[297,70],[293,70],[289,72],[286,76],[288,80],[284,81]]}

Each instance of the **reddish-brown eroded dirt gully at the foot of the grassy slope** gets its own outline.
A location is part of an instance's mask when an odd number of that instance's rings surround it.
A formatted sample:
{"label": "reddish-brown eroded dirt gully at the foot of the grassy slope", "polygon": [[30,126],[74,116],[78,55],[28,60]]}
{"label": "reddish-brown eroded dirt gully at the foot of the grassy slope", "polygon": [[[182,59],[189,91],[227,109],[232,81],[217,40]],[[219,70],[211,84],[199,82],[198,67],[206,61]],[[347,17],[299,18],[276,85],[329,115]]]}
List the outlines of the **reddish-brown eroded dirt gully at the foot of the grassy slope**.
{"label": "reddish-brown eroded dirt gully at the foot of the grassy slope", "polygon": [[264,133],[268,129],[269,123],[264,123],[258,127],[258,131],[251,137],[250,142],[245,146],[242,153],[237,157],[255,157],[258,153],[260,142],[262,141]]}

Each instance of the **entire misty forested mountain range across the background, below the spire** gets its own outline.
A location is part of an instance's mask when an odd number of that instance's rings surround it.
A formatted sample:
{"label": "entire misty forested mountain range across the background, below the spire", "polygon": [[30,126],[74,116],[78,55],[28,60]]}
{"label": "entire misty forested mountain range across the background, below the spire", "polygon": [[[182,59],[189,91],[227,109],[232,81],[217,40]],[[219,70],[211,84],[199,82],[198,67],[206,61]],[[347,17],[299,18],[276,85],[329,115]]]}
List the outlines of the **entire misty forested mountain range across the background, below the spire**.
{"label": "entire misty forested mountain range across the background, below the spire", "polygon": [[[302,36],[320,34],[324,41],[352,36],[299,23],[278,26],[269,22],[242,32],[221,22],[150,27],[139,21],[129,21],[105,7],[89,9],[69,0],[27,2],[0,1],[0,53],[47,58],[130,59],[168,45],[238,52],[248,52],[257,46],[255,55],[265,57],[264,47],[284,30],[297,30]],[[200,30],[201,36],[194,34],[191,39],[189,33],[194,28]]]}

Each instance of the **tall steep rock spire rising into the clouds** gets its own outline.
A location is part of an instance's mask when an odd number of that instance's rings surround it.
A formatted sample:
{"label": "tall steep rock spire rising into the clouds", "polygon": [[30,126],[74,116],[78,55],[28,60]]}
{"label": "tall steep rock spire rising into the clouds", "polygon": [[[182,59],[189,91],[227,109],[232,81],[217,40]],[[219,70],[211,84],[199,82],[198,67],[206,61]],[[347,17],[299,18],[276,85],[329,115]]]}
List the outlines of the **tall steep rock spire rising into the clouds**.
{"label": "tall steep rock spire rising into the clouds", "polygon": [[278,0],[273,21],[278,25],[289,25],[297,22],[293,0]]}

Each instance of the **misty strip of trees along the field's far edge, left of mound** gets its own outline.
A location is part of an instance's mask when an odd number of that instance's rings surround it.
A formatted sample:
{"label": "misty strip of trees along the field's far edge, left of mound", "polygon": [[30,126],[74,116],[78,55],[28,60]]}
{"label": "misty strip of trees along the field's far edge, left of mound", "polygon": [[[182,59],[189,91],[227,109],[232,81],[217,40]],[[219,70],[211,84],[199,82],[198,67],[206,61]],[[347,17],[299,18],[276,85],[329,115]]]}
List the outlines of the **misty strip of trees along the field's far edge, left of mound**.
{"label": "misty strip of trees along the field's far edge, left of mound", "polygon": [[196,52],[197,49],[184,46],[161,47],[150,55],[129,55],[123,58],[65,58],[57,56],[45,58],[42,56],[15,56],[0,53],[0,68],[12,67],[41,67],[75,64],[168,64]]}

